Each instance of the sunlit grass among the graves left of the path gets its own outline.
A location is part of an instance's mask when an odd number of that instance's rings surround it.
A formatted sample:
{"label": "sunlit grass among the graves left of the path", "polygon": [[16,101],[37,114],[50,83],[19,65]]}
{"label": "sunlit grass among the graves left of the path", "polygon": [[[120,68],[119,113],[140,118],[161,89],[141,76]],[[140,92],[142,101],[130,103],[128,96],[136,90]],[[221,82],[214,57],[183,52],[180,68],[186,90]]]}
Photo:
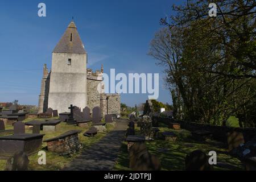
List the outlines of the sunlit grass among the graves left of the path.
{"label": "sunlit grass among the graves left of the path", "polygon": [[[57,118],[51,118],[51,119],[57,119]],[[35,120],[35,119],[26,119],[23,122],[28,122],[31,120]],[[36,119],[38,120],[38,119]],[[40,119],[39,119],[40,120]],[[44,120],[44,119],[41,119]],[[88,128],[81,128],[79,126],[70,126],[70,125],[66,125],[66,123],[61,122],[60,123],[60,127],[59,130],[54,132],[54,133],[44,133],[43,131],[41,131],[41,134],[46,134],[43,137],[43,140],[45,139],[49,139],[49,138],[53,138],[53,137],[57,137],[60,134],[65,133],[66,131],[69,130],[82,130],[81,133],[79,134],[79,140],[80,143],[82,144],[82,149],[80,150],[80,152],[86,148],[89,147],[91,144],[98,142],[98,140],[100,140],[102,137],[104,137],[106,135],[106,133],[108,133],[110,130],[113,129],[113,126],[108,125],[107,124],[107,129],[108,131],[106,131],[105,133],[98,133],[95,137],[84,137],[84,135],[82,135],[86,130],[89,129]],[[7,125],[6,129],[13,129],[13,126],[11,125]],[[26,133],[32,133],[31,129],[26,129]],[[58,155],[54,152],[50,152],[47,151],[47,144],[45,142],[42,143],[42,149],[43,151],[46,151],[46,165],[39,165],[38,164],[38,158],[40,156],[38,156],[38,152],[36,152],[34,155],[29,156],[29,166],[28,169],[32,170],[32,171],[38,171],[38,170],[60,170],[61,168],[63,168],[64,166],[66,166],[68,163],[72,162],[73,159],[75,159],[77,156],[80,155],[80,152],[77,152],[76,154],[73,155]],[[4,159],[0,159],[0,171],[4,170],[6,166],[6,160]]]}

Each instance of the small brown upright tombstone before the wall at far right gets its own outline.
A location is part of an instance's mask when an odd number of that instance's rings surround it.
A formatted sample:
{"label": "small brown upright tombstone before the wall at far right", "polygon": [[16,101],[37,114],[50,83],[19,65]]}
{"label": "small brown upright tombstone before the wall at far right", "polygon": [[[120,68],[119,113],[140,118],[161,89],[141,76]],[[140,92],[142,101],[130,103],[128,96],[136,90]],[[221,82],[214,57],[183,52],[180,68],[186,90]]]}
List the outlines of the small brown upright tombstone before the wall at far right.
{"label": "small brown upright tombstone before the wall at far right", "polygon": [[227,134],[228,137],[228,151],[232,151],[233,148],[240,146],[240,144],[245,143],[243,134],[237,131],[231,131]]}

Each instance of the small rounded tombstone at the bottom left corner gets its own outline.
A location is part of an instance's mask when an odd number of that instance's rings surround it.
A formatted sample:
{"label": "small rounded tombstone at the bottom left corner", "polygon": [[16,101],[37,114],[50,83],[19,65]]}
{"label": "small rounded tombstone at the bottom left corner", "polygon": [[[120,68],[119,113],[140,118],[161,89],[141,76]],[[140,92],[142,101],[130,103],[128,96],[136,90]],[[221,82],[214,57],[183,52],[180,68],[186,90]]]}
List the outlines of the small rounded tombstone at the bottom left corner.
{"label": "small rounded tombstone at the bottom left corner", "polygon": [[16,152],[13,157],[7,160],[5,171],[27,171],[28,157],[23,151]]}

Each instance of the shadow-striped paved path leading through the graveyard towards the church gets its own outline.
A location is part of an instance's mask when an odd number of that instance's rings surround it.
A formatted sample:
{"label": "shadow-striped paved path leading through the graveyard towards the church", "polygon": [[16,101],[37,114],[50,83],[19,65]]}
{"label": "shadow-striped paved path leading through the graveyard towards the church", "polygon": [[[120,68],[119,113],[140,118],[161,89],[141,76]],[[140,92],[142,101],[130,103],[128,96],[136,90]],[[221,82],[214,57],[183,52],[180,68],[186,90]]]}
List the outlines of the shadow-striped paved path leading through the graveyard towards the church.
{"label": "shadow-striped paved path leading through the graveyard towards the church", "polygon": [[127,119],[118,119],[115,128],[99,142],[92,144],[74,159],[65,171],[109,171],[114,167],[119,148],[125,137]]}

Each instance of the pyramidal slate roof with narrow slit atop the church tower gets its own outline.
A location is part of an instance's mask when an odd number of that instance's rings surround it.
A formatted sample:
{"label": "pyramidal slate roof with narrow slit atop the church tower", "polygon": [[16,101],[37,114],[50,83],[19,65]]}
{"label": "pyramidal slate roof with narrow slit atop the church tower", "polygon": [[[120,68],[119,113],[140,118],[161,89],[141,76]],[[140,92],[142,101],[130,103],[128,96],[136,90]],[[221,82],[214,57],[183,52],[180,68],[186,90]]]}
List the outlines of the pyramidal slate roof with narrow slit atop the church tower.
{"label": "pyramidal slate roof with narrow slit atop the church tower", "polygon": [[67,30],[64,32],[64,35],[61,37],[59,43],[52,52],[86,53],[84,44],[82,44],[82,40],[77,32],[77,28],[73,20],[69,23]]}

